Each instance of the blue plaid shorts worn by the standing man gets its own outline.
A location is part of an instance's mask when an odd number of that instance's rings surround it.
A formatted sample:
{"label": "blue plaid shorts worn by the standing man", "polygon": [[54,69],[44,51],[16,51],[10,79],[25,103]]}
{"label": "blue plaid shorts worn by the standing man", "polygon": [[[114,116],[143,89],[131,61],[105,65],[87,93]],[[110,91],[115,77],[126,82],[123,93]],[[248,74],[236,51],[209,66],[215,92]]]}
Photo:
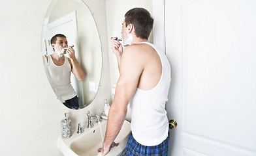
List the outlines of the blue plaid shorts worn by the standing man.
{"label": "blue plaid shorts worn by the standing man", "polygon": [[168,140],[169,135],[167,139],[157,146],[144,146],[136,142],[131,133],[125,149],[125,156],[167,156]]}

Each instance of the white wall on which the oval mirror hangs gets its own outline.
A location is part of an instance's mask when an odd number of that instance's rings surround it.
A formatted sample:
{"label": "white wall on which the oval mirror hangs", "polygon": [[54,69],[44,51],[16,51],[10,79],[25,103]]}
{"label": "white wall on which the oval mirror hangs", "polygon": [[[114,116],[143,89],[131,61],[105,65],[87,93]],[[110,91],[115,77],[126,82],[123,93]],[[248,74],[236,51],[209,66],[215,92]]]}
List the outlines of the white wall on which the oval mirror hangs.
{"label": "white wall on which the oval mirror hangs", "polygon": [[[61,155],[57,149],[63,112],[71,112],[73,129],[85,125],[86,112],[103,111],[110,99],[105,1],[86,0],[99,28],[103,79],[95,101],[82,110],[66,109],[48,83],[41,55],[41,32],[51,0],[0,1],[0,155]],[[65,4],[64,4],[65,5]],[[97,12],[102,10],[102,12]]]}

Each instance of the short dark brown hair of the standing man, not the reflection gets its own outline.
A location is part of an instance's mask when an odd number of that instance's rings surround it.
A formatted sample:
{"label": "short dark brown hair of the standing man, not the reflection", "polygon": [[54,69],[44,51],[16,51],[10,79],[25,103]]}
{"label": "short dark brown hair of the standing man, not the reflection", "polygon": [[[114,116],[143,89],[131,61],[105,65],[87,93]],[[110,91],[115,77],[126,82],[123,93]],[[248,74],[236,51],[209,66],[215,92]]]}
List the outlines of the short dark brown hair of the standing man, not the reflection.
{"label": "short dark brown hair of the standing man, not the reflection", "polygon": [[147,39],[153,29],[153,18],[145,8],[132,8],[125,14],[125,26],[133,24],[137,37]]}

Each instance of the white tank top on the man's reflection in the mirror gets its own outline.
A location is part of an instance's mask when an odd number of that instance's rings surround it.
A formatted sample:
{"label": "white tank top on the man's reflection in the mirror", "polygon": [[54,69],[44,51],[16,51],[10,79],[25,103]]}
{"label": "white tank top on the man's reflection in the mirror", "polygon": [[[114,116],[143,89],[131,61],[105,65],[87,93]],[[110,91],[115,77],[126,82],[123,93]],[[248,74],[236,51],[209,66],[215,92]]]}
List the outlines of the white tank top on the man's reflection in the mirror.
{"label": "white tank top on the man's reflection in the mirror", "polygon": [[48,55],[48,69],[53,83],[52,88],[54,88],[57,97],[64,100],[74,98],[76,92],[71,85],[71,65],[67,57],[65,57],[63,65],[57,66],[52,57]]}

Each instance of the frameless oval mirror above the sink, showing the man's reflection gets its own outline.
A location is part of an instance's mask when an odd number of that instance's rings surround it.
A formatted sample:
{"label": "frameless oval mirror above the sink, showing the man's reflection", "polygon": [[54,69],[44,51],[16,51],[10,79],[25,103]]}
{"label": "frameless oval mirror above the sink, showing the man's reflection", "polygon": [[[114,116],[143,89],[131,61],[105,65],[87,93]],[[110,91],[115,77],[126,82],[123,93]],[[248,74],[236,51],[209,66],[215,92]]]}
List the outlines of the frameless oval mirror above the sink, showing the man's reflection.
{"label": "frameless oval mirror above the sink, showing the man's reflection", "polygon": [[82,109],[93,101],[101,79],[102,51],[97,26],[82,0],[52,1],[42,28],[42,59],[61,103]]}

